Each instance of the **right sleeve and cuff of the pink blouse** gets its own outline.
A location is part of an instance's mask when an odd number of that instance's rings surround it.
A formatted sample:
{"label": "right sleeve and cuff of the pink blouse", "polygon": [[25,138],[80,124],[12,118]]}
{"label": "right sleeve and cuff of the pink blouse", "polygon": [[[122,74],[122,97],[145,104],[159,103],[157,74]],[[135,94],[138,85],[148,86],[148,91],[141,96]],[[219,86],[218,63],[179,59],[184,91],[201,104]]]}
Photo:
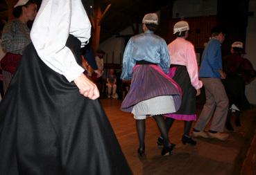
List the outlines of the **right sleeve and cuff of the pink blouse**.
{"label": "right sleeve and cuff of the pink blouse", "polygon": [[192,44],[189,44],[189,47],[187,48],[186,67],[192,86],[194,86],[195,89],[200,89],[203,86],[203,83],[198,79],[198,65],[196,62],[196,53]]}

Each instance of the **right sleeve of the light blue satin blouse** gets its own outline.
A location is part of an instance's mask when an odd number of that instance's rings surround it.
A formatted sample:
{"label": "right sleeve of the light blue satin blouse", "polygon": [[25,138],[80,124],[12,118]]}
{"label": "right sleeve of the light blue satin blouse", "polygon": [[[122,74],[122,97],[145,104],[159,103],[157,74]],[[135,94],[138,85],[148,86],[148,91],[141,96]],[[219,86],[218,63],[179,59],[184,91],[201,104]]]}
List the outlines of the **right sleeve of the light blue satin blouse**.
{"label": "right sleeve of the light blue satin blouse", "polygon": [[163,42],[162,42],[162,44],[161,44],[161,61],[160,61],[160,67],[162,68],[162,70],[163,70],[165,73],[168,73],[170,64],[171,64],[171,59],[170,59],[170,55],[169,55],[169,50],[168,50],[168,47],[167,47],[167,43],[164,42],[164,40],[163,40]]}

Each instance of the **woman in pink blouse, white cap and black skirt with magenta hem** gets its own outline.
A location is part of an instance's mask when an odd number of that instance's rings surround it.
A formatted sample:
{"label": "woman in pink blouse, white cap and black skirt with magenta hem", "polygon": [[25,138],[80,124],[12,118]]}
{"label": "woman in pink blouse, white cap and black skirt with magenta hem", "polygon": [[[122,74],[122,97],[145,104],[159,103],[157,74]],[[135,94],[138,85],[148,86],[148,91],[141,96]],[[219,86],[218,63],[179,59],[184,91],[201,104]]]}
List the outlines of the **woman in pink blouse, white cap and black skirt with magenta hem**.
{"label": "woman in pink blouse, white cap and black skirt with magenta hem", "polygon": [[[170,129],[174,120],[184,120],[184,134],[182,143],[196,145],[196,141],[189,136],[191,124],[196,120],[196,95],[200,94],[202,82],[198,80],[198,65],[193,44],[186,38],[189,35],[187,21],[179,21],[173,27],[176,39],[168,45],[171,57],[169,76],[173,78],[182,89],[182,104],[176,113],[165,115],[167,128]],[[162,138],[158,138],[158,145],[162,145]]]}

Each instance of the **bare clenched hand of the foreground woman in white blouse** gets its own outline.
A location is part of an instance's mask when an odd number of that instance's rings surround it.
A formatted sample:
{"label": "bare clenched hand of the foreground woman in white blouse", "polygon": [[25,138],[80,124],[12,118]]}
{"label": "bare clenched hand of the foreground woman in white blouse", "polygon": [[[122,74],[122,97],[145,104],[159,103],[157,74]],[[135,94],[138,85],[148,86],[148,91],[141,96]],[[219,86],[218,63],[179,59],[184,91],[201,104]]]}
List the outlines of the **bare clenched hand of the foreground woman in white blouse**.
{"label": "bare clenched hand of the foreground woman in white blouse", "polygon": [[74,80],[74,83],[78,87],[80,94],[92,100],[99,98],[99,90],[96,84],[89,80],[83,73]]}

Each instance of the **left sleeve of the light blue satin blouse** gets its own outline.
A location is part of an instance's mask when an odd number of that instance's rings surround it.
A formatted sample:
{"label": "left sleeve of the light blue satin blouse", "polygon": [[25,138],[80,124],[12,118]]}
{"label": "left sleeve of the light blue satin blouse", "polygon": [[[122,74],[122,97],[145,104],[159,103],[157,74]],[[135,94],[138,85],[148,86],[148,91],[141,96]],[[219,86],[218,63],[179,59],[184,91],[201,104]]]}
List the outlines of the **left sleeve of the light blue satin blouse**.
{"label": "left sleeve of the light blue satin blouse", "polygon": [[135,59],[133,59],[133,38],[131,38],[126,45],[123,53],[123,70],[121,73],[121,80],[131,80],[133,75],[133,66],[135,66]]}

